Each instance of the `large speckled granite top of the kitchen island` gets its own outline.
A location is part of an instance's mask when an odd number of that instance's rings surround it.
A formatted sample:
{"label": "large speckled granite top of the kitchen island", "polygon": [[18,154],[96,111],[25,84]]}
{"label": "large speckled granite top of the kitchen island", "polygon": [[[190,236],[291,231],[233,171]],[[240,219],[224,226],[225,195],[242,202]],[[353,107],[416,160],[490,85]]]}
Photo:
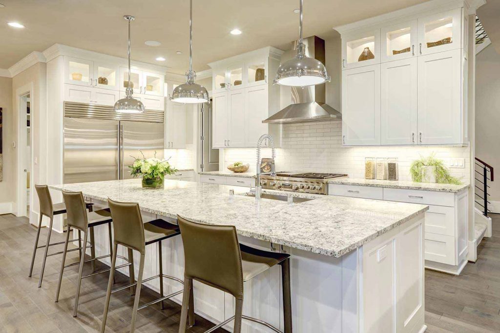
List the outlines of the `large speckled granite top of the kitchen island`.
{"label": "large speckled granite top of the kitchen island", "polygon": [[[165,180],[164,188],[142,189],[140,179],[50,185],[56,190],[81,191],[106,201],[137,202],[143,211],[199,223],[234,225],[242,236],[340,257],[428,209],[408,204],[325,195],[302,203],[239,195],[241,187]],[[229,195],[233,189],[235,195]],[[276,191],[263,191],[276,193]],[[283,194],[283,192],[277,191]]]}

